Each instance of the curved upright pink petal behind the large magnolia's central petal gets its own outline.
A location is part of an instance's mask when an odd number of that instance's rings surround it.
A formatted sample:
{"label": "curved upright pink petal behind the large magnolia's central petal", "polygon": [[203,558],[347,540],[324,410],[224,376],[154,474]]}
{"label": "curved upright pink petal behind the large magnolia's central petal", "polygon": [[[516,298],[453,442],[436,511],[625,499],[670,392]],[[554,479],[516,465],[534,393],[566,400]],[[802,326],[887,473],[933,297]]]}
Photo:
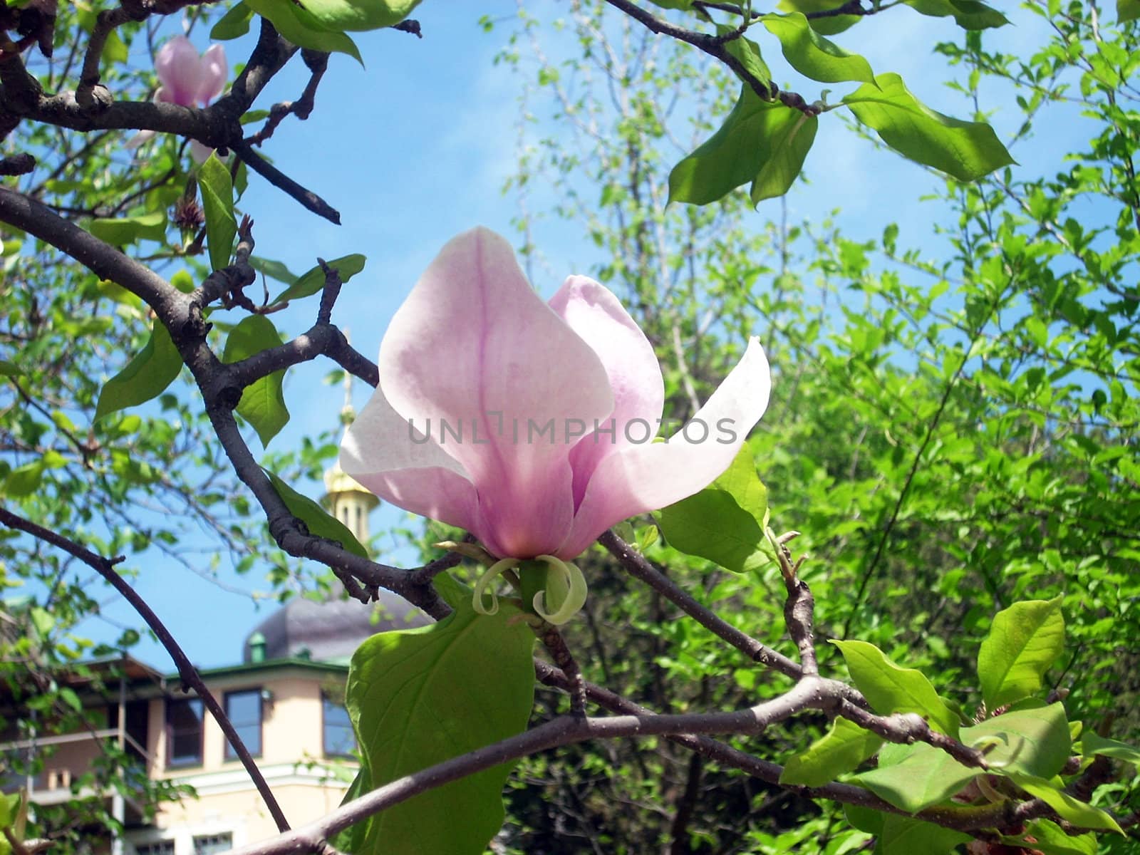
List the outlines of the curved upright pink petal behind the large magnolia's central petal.
{"label": "curved upright pink petal behind the large magnolia's central petal", "polygon": [[640,423],[651,437],[657,434],[665,381],[653,345],[609,288],[571,276],[551,299],[551,308],[597,353],[613,391],[613,414],[604,430],[585,437],[570,453],[577,507],[598,461],[629,445],[630,433],[638,439]]}

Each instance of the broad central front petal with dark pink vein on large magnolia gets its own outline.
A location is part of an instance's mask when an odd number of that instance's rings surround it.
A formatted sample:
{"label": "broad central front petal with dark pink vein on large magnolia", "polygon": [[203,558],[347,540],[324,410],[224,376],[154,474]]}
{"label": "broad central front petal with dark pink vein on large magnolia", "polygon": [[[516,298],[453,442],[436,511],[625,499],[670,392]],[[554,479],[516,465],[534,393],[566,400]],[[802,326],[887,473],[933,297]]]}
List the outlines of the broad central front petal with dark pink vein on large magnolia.
{"label": "broad central front petal with dark pink vein on large magnolia", "polygon": [[531,557],[562,543],[573,434],[606,418],[613,397],[597,356],[534,292],[505,239],[483,228],[453,238],[392,318],[378,365],[392,407],[421,427],[431,420],[475,486],[484,545]]}

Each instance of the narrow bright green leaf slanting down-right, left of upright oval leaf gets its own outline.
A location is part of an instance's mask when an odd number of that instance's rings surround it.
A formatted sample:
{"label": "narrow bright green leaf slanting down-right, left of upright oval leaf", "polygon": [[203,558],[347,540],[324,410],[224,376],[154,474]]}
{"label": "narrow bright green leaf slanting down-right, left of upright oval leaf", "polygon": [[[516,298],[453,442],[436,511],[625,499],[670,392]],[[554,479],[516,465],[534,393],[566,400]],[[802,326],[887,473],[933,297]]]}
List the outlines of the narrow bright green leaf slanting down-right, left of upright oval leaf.
{"label": "narrow bright green leaf slanting down-right, left of upright oval leaf", "polygon": [[847,670],[876,712],[918,712],[930,726],[958,735],[958,716],[938,697],[930,681],[913,668],[901,668],[873,644],[832,641],[844,654]]}

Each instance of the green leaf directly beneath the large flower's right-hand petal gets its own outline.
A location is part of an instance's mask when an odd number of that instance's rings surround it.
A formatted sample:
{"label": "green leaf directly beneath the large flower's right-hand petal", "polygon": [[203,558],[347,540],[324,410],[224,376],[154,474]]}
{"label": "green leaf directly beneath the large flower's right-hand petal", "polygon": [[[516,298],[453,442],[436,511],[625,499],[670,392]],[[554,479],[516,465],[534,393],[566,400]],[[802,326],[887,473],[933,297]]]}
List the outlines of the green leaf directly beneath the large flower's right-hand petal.
{"label": "green leaf directly beneath the large flower's right-hand petal", "polygon": [[752,450],[744,445],[711,484],[659,513],[669,546],[742,573],[769,561],[764,551],[767,490],[756,474]]}

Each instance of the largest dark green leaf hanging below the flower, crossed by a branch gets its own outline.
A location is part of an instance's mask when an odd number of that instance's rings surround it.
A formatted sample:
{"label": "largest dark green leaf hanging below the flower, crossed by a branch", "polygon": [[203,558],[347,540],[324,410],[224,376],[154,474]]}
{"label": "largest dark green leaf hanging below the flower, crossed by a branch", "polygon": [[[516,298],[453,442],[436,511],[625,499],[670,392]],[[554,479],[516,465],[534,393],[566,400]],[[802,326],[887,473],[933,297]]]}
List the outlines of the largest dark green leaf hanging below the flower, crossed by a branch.
{"label": "largest dark green leaf hanging below the flower, crossed by a branch", "polygon": [[[347,706],[370,787],[521,733],[534,703],[534,635],[503,602],[475,614],[471,592],[437,578],[454,613],[368,638],[352,657]],[[423,792],[367,821],[355,855],[482,855],[503,824],[503,764]],[[361,769],[364,772],[364,769]],[[446,817],[446,821],[443,821]]]}

